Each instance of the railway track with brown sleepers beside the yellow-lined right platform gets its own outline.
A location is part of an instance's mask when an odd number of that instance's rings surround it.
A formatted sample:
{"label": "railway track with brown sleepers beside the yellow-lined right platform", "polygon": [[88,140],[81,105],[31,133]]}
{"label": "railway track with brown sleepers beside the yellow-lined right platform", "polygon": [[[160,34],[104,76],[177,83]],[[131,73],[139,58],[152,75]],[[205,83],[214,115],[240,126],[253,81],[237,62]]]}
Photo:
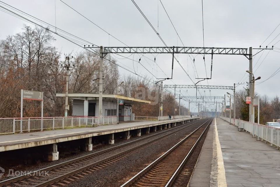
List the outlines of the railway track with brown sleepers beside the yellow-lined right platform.
{"label": "railway track with brown sleepers beside the yellow-lined right platform", "polygon": [[171,186],[211,122],[212,119],[202,121],[202,125],[144,168],[141,172],[132,177],[129,181],[124,183],[121,187]]}

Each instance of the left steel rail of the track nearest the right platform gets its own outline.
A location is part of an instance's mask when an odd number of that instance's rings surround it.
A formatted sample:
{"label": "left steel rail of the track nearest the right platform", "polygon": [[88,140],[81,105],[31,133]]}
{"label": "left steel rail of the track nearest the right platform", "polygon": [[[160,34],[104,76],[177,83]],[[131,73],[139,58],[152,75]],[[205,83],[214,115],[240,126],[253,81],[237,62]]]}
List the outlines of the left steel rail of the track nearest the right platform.
{"label": "left steel rail of the track nearest the right platform", "polygon": [[[210,122],[209,122],[210,121]],[[163,160],[167,155],[169,155],[173,150],[175,150],[179,145],[181,145],[185,140],[187,140],[190,136],[192,136],[192,134],[194,134],[198,129],[200,129],[204,124],[206,124],[207,122],[209,122],[209,124],[211,123],[212,119],[207,120],[206,122],[204,122],[202,125],[200,125],[197,129],[195,129],[194,131],[192,131],[188,136],[186,136],[185,138],[183,138],[181,141],[179,141],[178,143],[176,143],[175,146],[173,146],[172,148],[170,148],[167,152],[165,152],[163,155],[161,155],[160,157],[158,157],[155,161],[153,161],[152,163],[150,163],[147,167],[145,167],[144,169],[142,169],[139,173],[137,173],[135,176],[133,176],[131,179],[129,179],[126,183],[122,184],[122,186],[120,187],[128,187],[130,186],[132,183],[134,183],[137,179],[139,179],[142,175],[144,175],[146,172],[148,172],[150,169],[152,169],[157,163],[159,163],[161,160]],[[209,124],[207,125],[207,127],[209,126]],[[206,127],[206,128],[207,128]],[[205,128],[205,129],[206,129]],[[205,129],[203,132],[205,132]]]}

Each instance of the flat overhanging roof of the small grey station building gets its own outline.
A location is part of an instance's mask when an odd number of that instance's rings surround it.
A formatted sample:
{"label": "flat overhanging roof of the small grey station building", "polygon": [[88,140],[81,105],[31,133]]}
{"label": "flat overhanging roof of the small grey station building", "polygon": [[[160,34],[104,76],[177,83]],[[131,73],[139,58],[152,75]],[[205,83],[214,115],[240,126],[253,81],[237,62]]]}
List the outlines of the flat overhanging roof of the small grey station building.
{"label": "flat overhanging roof of the small grey station building", "polygon": [[[57,97],[65,97],[65,93],[57,93]],[[68,97],[71,99],[80,99],[80,100],[98,100],[99,94],[98,93],[68,93]],[[143,99],[136,99],[133,97],[127,97],[117,94],[102,94],[103,99],[123,99],[125,101],[125,104],[135,104],[135,103],[148,103],[150,104],[150,101],[143,100]]]}

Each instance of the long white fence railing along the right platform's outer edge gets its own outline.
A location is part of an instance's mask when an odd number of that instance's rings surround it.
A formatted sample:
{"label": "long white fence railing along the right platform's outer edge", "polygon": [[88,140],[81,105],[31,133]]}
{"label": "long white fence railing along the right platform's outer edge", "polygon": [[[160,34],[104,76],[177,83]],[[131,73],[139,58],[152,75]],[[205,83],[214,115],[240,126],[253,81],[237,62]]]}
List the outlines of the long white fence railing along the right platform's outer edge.
{"label": "long white fence railing along the right platform's outer edge", "polygon": [[253,135],[253,137],[260,138],[263,141],[269,142],[270,145],[280,147],[280,129],[269,127],[258,123],[247,122],[244,120],[230,119],[228,117],[221,117],[221,119],[234,124],[235,126],[244,129]]}

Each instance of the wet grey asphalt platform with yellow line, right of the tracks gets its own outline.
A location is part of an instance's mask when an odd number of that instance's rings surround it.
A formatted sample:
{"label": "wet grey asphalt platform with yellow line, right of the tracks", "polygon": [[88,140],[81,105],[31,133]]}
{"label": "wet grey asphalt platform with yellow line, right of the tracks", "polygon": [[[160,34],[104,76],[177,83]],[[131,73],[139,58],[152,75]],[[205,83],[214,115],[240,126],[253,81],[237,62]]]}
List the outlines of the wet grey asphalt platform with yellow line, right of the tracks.
{"label": "wet grey asphalt platform with yellow line, right of the tracks", "polygon": [[188,186],[279,187],[280,151],[216,118]]}

